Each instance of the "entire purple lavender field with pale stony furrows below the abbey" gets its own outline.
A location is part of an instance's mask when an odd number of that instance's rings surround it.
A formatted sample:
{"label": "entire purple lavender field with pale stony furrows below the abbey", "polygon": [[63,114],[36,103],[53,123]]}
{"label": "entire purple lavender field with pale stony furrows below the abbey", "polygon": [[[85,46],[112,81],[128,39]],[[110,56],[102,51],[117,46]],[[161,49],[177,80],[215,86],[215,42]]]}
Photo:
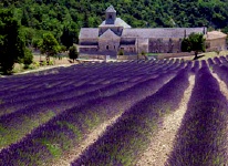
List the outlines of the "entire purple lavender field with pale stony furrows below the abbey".
{"label": "entire purple lavender field with pale stony furrows below the abbey", "polygon": [[0,79],[0,166],[228,165],[228,56]]}

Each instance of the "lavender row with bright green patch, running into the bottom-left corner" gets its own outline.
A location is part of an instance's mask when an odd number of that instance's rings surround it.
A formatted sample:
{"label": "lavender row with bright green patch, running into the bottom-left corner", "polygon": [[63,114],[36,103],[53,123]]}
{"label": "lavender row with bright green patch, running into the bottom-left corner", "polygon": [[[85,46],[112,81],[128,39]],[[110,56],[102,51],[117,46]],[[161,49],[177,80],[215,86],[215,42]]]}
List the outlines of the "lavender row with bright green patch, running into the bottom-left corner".
{"label": "lavender row with bright green patch, running into the bottom-left corner", "polygon": [[62,153],[77,145],[93,127],[152,95],[173,76],[172,73],[166,73],[114,96],[95,100],[60,114],[44,126],[37,128],[24,141],[2,149],[0,165],[18,165],[19,163],[35,165],[56,157],[52,147],[56,147],[56,151]]}

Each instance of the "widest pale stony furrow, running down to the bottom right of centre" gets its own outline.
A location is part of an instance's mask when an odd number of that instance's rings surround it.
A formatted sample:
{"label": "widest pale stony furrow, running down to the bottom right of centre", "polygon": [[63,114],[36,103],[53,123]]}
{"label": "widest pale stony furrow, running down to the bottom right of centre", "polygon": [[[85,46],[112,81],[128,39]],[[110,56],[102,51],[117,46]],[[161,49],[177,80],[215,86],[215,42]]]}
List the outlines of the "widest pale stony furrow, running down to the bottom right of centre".
{"label": "widest pale stony furrow, running down to the bottom right of centre", "polygon": [[191,90],[195,84],[195,76],[189,77],[189,86],[184,93],[179,107],[163,120],[158,133],[152,137],[151,144],[137,160],[137,166],[163,166],[172,152],[173,144],[182,120],[187,111],[187,103],[190,98]]}

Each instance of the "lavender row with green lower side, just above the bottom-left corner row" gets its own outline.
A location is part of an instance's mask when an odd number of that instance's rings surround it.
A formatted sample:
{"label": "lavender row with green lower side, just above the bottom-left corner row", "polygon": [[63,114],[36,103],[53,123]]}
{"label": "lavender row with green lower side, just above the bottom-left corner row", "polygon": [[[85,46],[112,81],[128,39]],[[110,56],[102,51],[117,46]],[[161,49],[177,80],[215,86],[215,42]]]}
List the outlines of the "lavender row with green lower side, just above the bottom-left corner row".
{"label": "lavender row with green lower side, just above the bottom-left corner row", "polygon": [[[131,89],[134,83],[115,83],[96,91],[92,91],[84,95],[73,96],[71,98],[48,102],[42,104],[35,104],[32,106],[24,107],[17,112],[0,117],[0,128],[4,132],[0,133],[2,146],[8,146],[15,141],[21,139],[25,134],[30,133],[38,125],[48,122],[53,116],[64,112],[65,110],[80,106],[89,101],[97,100],[105,96],[114,95],[121,91]],[[21,129],[25,128],[25,129]],[[17,131],[21,131],[17,133]]]}

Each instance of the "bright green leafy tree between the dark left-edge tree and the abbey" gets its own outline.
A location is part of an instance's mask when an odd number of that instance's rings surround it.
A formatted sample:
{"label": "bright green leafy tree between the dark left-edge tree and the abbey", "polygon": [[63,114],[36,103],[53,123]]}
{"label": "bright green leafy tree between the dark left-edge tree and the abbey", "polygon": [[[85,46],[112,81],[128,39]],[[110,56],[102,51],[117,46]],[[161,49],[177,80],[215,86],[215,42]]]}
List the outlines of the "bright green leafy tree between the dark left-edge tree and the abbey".
{"label": "bright green leafy tree between the dark left-edge tree and the abbey", "polygon": [[46,61],[49,64],[50,56],[56,55],[60,52],[61,46],[52,33],[44,33],[43,39],[39,43],[39,49],[41,53],[46,55]]}

